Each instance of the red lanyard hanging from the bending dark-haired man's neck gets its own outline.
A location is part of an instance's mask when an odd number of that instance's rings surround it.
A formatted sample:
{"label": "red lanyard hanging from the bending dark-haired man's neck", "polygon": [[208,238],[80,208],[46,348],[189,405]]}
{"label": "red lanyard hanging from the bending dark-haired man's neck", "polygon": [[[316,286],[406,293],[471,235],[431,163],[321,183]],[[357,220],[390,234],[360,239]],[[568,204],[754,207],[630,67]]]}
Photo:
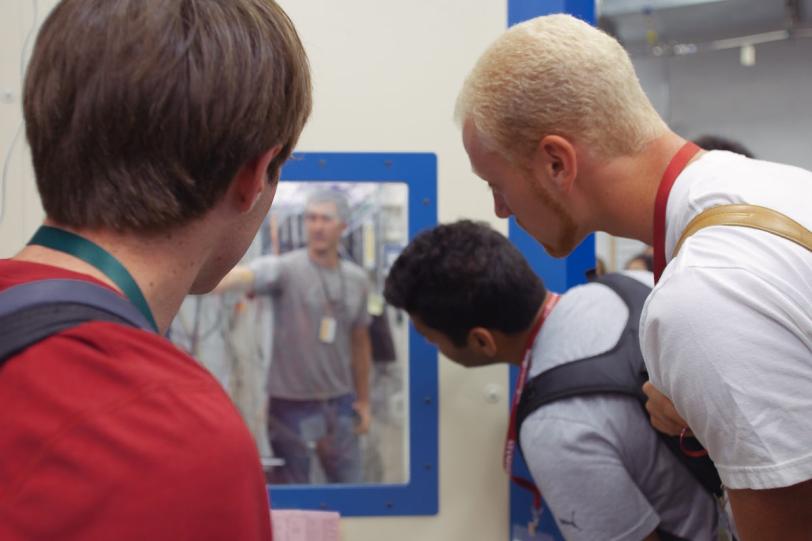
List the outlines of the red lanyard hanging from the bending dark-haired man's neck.
{"label": "red lanyard hanging from the bending dark-haired man's neck", "polygon": [[547,300],[544,302],[541,317],[539,317],[538,321],[533,326],[533,330],[530,332],[530,336],[528,337],[527,345],[525,346],[524,359],[522,360],[522,366],[519,371],[519,377],[516,379],[516,389],[513,392],[513,404],[510,409],[510,423],[508,425],[507,435],[505,436],[505,450],[503,455],[503,467],[505,468],[505,472],[508,474],[508,476],[510,476],[511,481],[533,494],[533,505],[530,508],[531,518],[527,524],[527,528],[525,529],[521,526],[514,526],[513,528],[514,532],[512,538],[516,541],[538,541],[547,539],[549,537],[546,535],[542,536],[542,534],[538,532],[539,520],[541,519],[541,493],[533,481],[513,475],[513,457],[514,453],[516,452],[516,445],[518,441],[516,411],[519,407],[519,402],[522,399],[522,392],[524,391],[525,383],[527,383],[527,375],[530,371],[530,365],[532,363],[533,343],[541,330],[541,326],[544,325],[544,322],[550,315],[550,312],[553,311],[553,308],[555,308],[555,305],[558,304],[558,300],[560,298],[561,296],[556,293],[549,294]]}

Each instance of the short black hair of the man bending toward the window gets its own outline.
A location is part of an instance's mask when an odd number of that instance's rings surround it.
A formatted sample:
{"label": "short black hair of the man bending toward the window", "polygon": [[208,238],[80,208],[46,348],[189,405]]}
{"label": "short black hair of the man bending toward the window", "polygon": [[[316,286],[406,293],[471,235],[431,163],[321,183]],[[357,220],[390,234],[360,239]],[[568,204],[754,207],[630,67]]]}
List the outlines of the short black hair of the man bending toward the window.
{"label": "short black hair of the man bending toward the window", "polygon": [[524,256],[486,224],[461,220],[423,231],[386,278],[389,304],[465,345],[485,327],[517,333],[530,327],[546,291]]}

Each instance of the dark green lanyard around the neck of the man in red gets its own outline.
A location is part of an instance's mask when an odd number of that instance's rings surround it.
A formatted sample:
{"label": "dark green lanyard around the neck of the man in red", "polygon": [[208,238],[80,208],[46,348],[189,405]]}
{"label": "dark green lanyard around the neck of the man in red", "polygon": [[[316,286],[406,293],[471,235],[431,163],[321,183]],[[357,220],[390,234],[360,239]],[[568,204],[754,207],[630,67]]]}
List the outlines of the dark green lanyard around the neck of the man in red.
{"label": "dark green lanyard around the neck of the man in red", "polygon": [[152,317],[152,311],[149,309],[147,300],[144,294],[141,293],[141,288],[133,280],[132,275],[124,268],[118,259],[110,255],[104,248],[98,244],[91,242],[85,238],[75,235],[64,229],[57,229],[43,225],[40,227],[28,244],[37,244],[45,246],[51,250],[70,254],[78,257],[85,263],[93,265],[100,270],[105,276],[115,283],[119,289],[127,296],[133,305],[144,314],[147,321],[158,331],[158,325],[155,323],[155,318]]}

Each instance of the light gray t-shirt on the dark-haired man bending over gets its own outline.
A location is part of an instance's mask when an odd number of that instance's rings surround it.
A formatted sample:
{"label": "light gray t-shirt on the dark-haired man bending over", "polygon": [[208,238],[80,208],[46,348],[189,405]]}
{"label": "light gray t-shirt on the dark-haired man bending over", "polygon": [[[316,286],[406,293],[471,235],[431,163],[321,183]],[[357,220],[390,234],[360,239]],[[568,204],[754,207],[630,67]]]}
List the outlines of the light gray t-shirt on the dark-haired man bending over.
{"label": "light gray t-shirt on the dark-haired man bending over", "polygon": [[[651,273],[628,275],[651,286]],[[570,289],[533,344],[533,377],[608,351],[629,311],[611,289]],[[714,537],[714,499],[660,441],[632,397],[591,395],[548,404],[522,425],[530,472],[568,540],[640,541],[655,528],[692,541]]]}

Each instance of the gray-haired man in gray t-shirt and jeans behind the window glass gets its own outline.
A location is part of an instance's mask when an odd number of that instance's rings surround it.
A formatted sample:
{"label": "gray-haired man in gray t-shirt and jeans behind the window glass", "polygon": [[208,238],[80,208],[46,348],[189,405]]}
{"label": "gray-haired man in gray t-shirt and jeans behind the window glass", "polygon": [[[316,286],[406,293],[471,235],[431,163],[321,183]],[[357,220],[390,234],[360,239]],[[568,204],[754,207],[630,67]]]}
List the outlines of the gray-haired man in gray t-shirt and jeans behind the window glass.
{"label": "gray-haired man in gray t-shirt and jeans behind the window glass", "polygon": [[362,481],[358,435],[369,429],[368,282],[339,257],[349,205],[319,190],[304,213],[307,247],[234,268],[216,291],[270,295],[273,351],[268,376],[269,435],[277,483],[308,483],[320,461],[330,483]]}

